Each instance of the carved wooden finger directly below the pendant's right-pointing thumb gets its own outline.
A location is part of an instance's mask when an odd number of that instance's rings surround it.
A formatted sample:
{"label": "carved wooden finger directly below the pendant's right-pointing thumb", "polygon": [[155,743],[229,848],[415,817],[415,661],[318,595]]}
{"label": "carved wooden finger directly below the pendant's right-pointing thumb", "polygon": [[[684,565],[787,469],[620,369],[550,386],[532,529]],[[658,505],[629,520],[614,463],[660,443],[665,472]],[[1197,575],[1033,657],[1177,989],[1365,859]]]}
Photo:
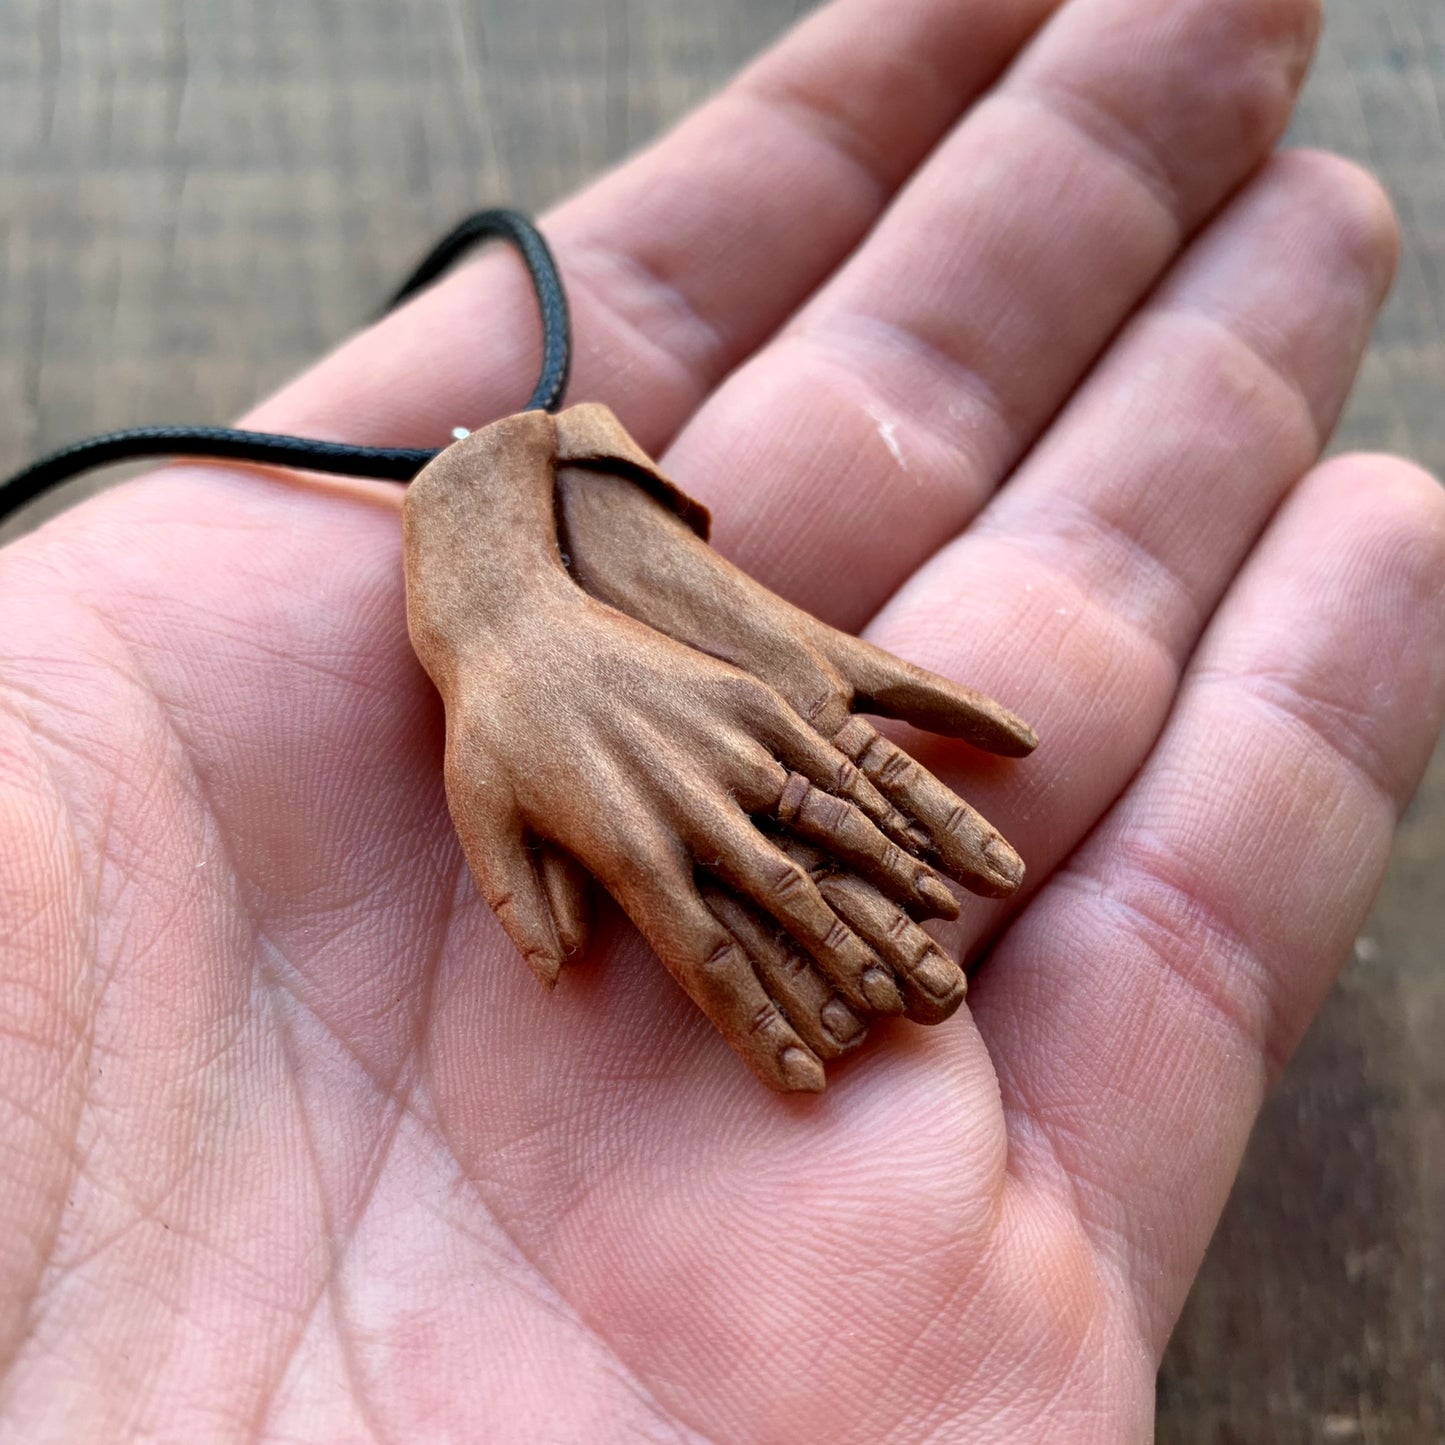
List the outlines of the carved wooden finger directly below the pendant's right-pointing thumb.
{"label": "carved wooden finger directly below the pendant's right-pointing thumb", "polygon": [[922,824],[949,877],[987,897],[1007,897],[1023,881],[1023,860],[998,831],[864,718],[848,718],[834,744]]}

